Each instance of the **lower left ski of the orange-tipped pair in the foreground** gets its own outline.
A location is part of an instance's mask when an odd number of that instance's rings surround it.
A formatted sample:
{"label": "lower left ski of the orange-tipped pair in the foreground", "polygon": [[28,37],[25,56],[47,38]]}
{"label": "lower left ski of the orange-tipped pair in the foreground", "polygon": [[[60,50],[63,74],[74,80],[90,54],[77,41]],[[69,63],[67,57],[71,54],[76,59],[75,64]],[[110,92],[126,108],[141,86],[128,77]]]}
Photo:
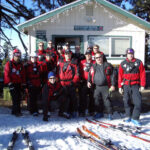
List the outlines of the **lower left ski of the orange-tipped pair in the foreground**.
{"label": "lower left ski of the orange-tipped pair in the foreground", "polygon": [[79,133],[80,137],[82,137],[83,139],[88,139],[89,141],[91,141],[93,144],[95,144],[97,147],[101,148],[102,150],[111,150],[107,146],[97,141],[95,138],[88,136],[87,134],[82,132],[79,128],[77,128],[77,133]]}

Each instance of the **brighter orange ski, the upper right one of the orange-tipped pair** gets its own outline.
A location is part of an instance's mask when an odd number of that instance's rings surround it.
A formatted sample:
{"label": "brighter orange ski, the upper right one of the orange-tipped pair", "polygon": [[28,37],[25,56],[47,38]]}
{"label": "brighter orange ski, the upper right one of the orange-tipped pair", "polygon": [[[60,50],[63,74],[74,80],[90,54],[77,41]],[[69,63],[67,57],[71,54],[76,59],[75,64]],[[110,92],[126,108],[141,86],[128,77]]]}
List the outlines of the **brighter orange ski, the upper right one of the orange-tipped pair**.
{"label": "brighter orange ski, the upper right one of the orange-tipped pair", "polygon": [[111,140],[109,140],[109,139],[106,140],[106,139],[101,138],[99,135],[97,135],[93,131],[89,130],[85,125],[83,125],[82,128],[83,128],[83,130],[85,132],[87,132],[91,136],[95,137],[96,139],[100,140],[102,142],[102,144],[106,145],[107,147],[109,147],[109,148],[111,148],[113,150],[127,150],[127,148],[125,146],[119,146],[119,147],[117,147],[116,145],[114,145],[112,143]]}

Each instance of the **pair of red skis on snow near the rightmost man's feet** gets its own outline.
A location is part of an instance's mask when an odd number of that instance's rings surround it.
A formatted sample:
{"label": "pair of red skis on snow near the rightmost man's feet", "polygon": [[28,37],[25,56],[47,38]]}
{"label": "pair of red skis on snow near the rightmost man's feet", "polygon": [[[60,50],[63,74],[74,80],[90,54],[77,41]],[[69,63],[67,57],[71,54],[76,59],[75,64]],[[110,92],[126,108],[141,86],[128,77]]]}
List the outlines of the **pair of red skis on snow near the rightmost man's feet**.
{"label": "pair of red skis on snow near the rightmost man's feet", "polygon": [[142,141],[150,143],[150,140],[137,136],[137,134],[143,134],[143,135],[150,136],[150,134],[143,132],[141,127],[130,127],[130,126],[126,126],[124,124],[113,125],[113,124],[105,123],[105,122],[98,121],[98,120],[90,120],[90,119],[86,119],[86,120],[89,123],[92,123],[94,125],[99,125],[100,127],[103,127],[103,128],[116,129],[116,130],[124,132],[125,134],[127,134],[131,137],[134,137],[134,138],[137,138],[137,139],[140,139]]}

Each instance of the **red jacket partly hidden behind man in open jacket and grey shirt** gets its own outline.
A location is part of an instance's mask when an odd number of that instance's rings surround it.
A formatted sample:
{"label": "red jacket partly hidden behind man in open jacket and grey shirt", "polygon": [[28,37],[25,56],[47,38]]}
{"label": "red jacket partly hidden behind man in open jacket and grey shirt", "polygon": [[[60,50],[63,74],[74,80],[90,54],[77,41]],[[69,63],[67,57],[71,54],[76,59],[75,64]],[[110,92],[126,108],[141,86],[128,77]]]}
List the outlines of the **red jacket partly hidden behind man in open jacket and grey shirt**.
{"label": "red jacket partly hidden behind man in open jacket and grey shirt", "polygon": [[88,79],[88,73],[90,71],[91,66],[95,63],[95,61],[91,60],[90,63],[87,63],[86,59],[80,62],[80,75],[81,79],[86,80]]}

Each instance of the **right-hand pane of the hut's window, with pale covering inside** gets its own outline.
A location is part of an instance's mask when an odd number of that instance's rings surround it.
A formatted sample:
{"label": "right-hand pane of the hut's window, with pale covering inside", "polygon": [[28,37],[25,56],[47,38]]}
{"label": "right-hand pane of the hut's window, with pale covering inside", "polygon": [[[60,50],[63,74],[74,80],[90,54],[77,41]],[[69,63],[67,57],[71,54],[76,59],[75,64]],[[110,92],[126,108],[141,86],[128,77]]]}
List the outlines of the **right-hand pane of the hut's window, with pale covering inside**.
{"label": "right-hand pane of the hut's window, with pale covering inside", "polygon": [[112,38],[111,56],[125,55],[125,50],[130,47],[130,38]]}

